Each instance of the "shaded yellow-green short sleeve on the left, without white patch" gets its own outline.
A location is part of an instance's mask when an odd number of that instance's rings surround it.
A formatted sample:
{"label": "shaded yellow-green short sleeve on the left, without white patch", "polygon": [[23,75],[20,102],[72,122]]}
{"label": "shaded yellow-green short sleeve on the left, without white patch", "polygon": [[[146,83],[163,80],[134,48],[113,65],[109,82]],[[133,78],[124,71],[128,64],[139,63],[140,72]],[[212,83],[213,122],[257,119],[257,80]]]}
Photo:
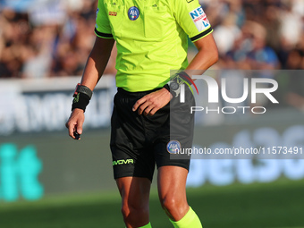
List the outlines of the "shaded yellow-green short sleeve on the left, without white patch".
{"label": "shaded yellow-green short sleeve on the left, without white patch", "polygon": [[105,1],[99,0],[96,12],[95,34],[99,38],[113,38],[110,22],[106,13]]}

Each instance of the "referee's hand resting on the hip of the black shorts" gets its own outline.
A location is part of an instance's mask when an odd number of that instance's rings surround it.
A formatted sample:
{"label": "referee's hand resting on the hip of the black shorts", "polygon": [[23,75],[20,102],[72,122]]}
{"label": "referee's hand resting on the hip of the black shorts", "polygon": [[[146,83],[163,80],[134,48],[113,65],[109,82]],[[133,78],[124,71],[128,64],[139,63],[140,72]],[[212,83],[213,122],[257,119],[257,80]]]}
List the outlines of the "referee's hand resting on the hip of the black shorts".
{"label": "referee's hand resting on the hip of the black shorts", "polygon": [[133,106],[133,112],[139,114],[154,115],[156,112],[167,105],[172,98],[171,93],[163,88],[140,98]]}

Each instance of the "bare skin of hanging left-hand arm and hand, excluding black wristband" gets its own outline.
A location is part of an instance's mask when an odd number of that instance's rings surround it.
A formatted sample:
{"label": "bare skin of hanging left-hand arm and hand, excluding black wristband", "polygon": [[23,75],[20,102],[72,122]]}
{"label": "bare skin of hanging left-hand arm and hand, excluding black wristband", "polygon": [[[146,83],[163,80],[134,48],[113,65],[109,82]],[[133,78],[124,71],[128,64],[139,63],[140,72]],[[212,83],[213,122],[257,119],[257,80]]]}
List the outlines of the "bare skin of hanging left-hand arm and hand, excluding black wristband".
{"label": "bare skin of hanging left-hand arm and hand, excluding black wristband", "polygon": [[[111,55],[112,48],[114,46],[113,38],[96,38],[95,44],[89,54],[88,61],[86,63],[82,78],[81,85],[93,90],[100,80],[103,72],[106,69],[106,64]],[[72,139],[75,139],[73,133],[77,131],[82,133],[82,125],[84,122],[84,112],[79,108],[72,110],[72,114],[65,126],[69,130],[69,135]]]}

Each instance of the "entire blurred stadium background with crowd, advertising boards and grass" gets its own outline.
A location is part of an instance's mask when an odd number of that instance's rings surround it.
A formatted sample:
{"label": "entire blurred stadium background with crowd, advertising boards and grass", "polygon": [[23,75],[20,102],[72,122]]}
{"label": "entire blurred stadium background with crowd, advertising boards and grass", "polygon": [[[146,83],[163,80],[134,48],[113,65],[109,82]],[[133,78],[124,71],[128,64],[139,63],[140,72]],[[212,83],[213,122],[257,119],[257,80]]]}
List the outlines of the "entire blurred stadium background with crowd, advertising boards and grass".
{"label": "entire blurred stadium background with crowd, advertising boards and grass", "polygon": [[[280,105],[261,99],[267,113],[258,116],[198,114],[195,145],[303,148],[304,0],[200,3],[220,52],[212,69],[279,72],[271,78]],[[69,139],[64,127],[96,9],[96,0],[0,0],[1,228],[123,227],[108,146],[115,48],[82,139]],[[190,44],[189,59],[195,53]],[[303,156],[285,158],[193,159],[190,205],[205,227],[304,227]],[[155,184],[151,222],[170,227]]]}

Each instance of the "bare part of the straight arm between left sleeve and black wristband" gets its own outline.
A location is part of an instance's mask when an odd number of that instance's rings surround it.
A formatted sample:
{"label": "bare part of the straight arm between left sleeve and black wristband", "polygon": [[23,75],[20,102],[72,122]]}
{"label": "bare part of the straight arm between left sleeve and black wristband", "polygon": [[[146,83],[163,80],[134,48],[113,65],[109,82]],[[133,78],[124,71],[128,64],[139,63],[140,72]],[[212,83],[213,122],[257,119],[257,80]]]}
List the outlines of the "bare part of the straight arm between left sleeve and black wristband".
{"label": "bare part of the straight arm between left sleeve and black wristband", "polygon": [[114,39],[97,38],[86,63],[80,82],[81,85],[91,90],[95,88],[106,69],[113,46]]}

